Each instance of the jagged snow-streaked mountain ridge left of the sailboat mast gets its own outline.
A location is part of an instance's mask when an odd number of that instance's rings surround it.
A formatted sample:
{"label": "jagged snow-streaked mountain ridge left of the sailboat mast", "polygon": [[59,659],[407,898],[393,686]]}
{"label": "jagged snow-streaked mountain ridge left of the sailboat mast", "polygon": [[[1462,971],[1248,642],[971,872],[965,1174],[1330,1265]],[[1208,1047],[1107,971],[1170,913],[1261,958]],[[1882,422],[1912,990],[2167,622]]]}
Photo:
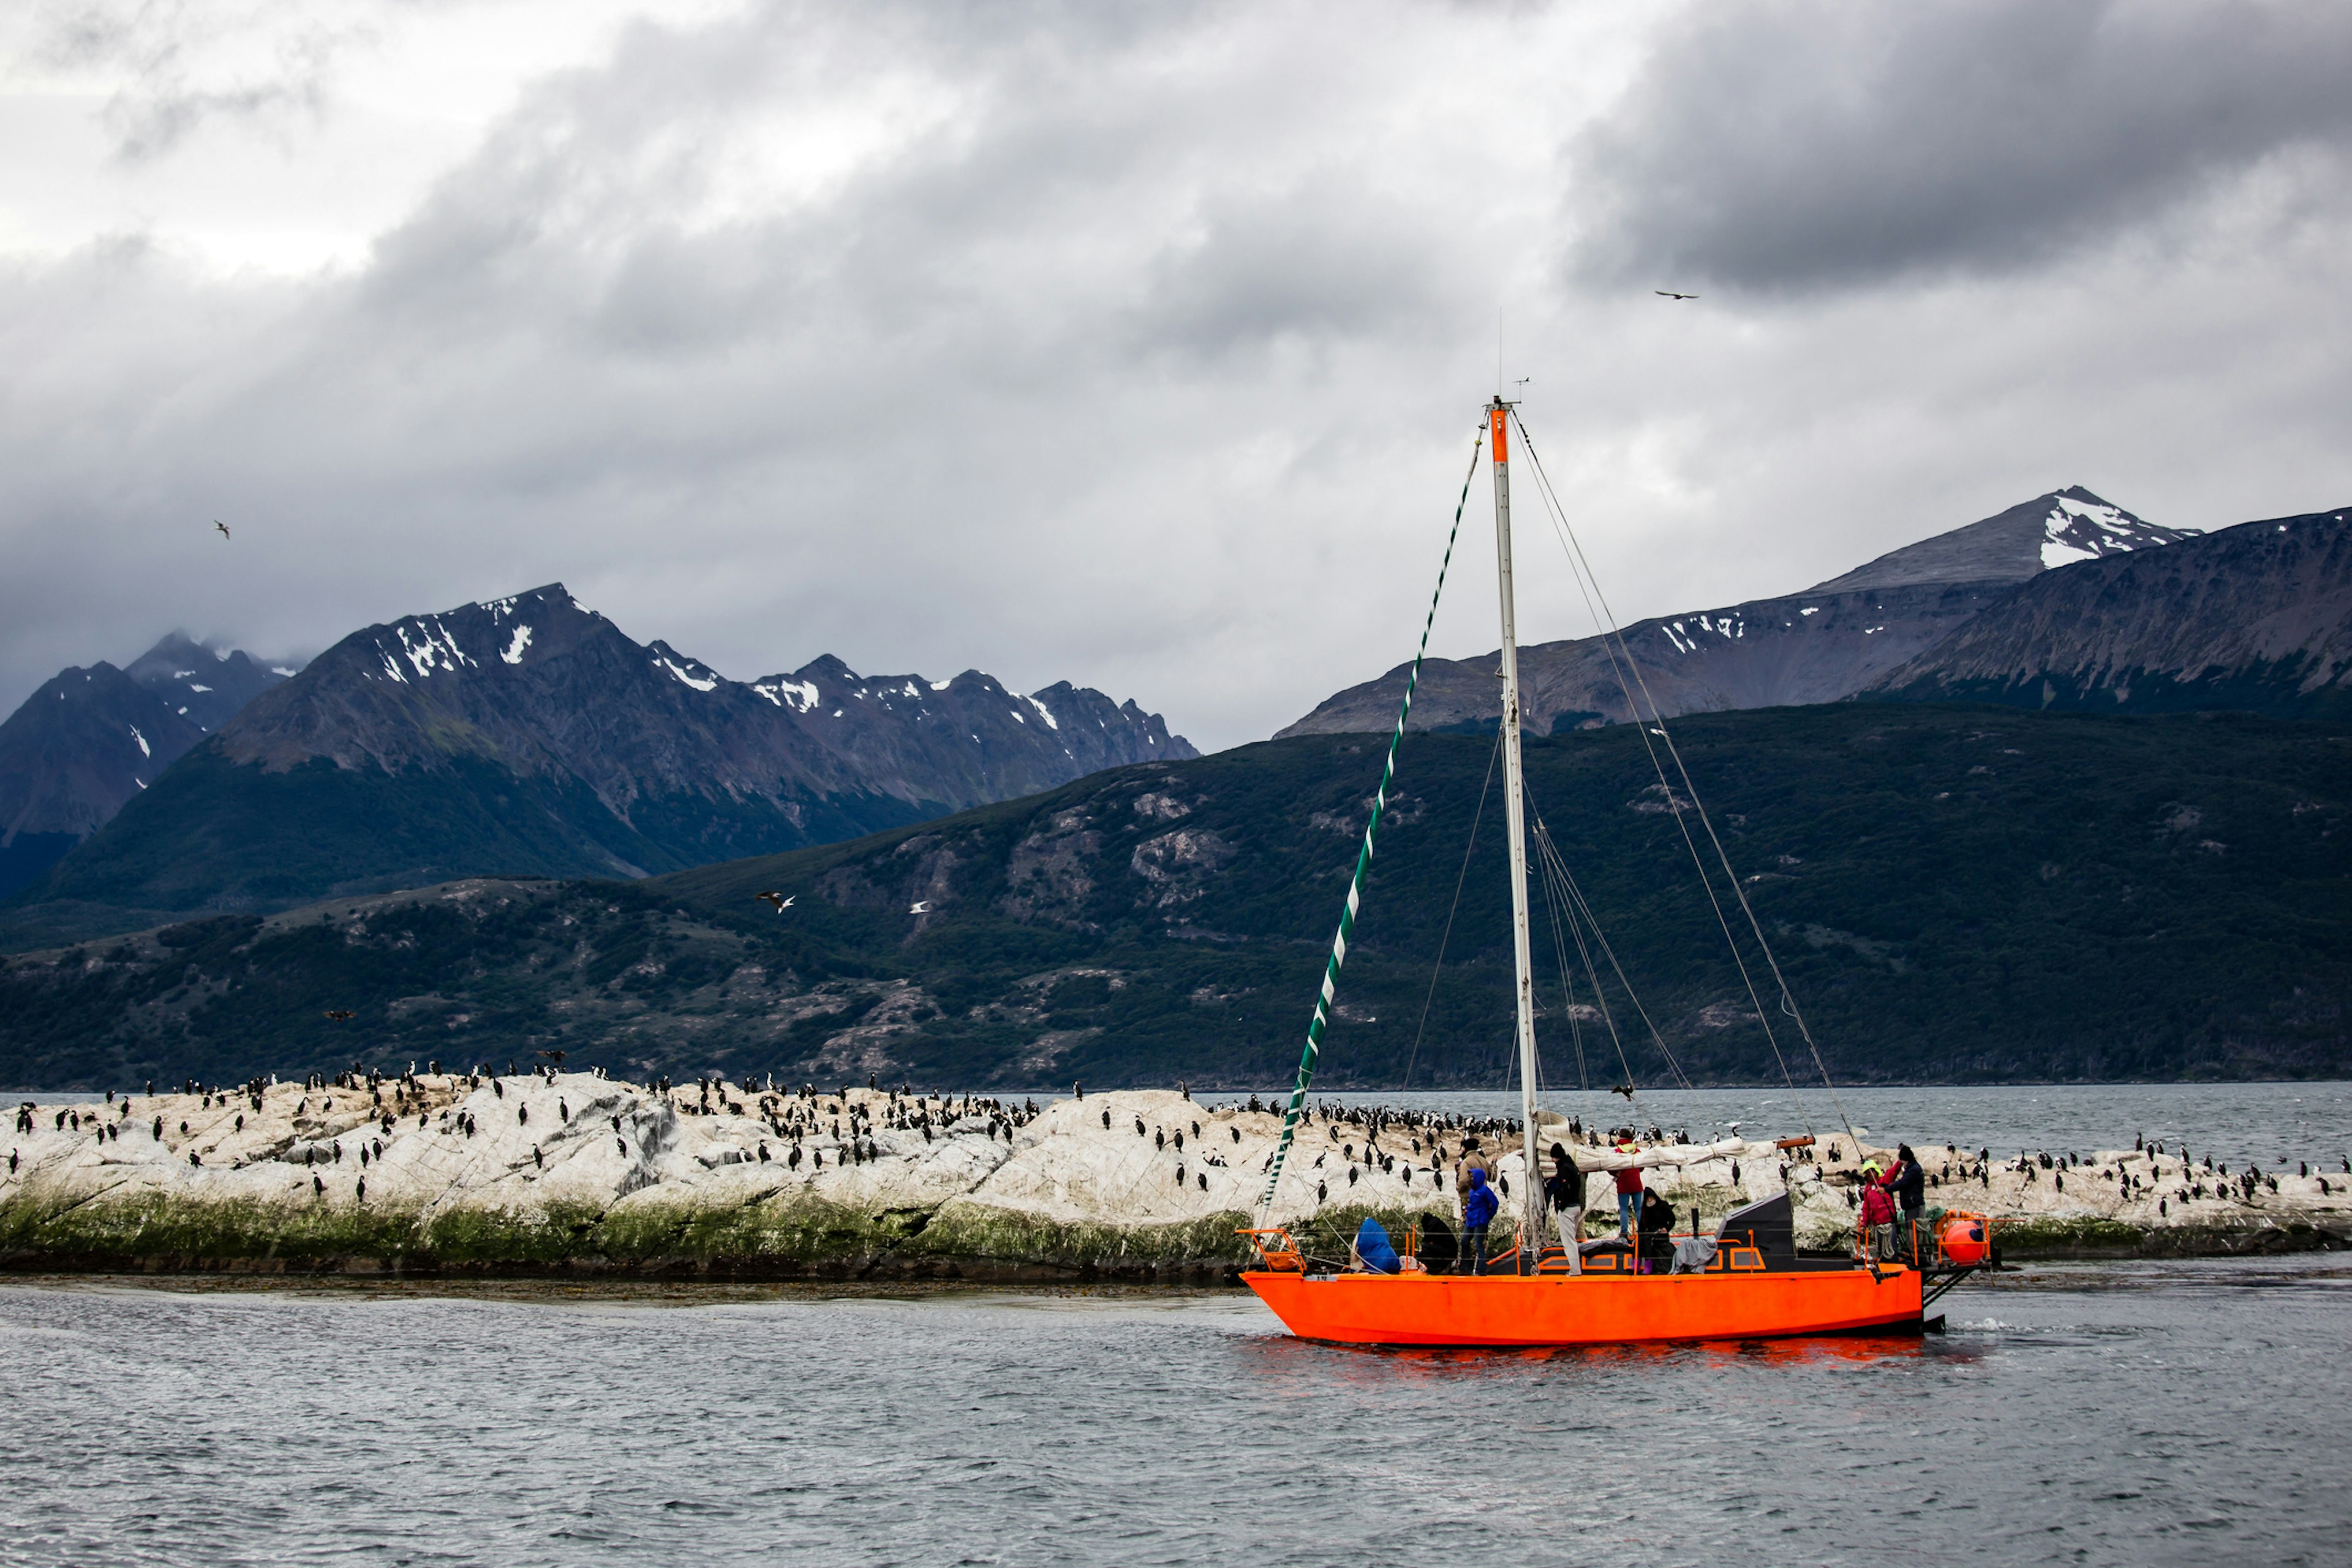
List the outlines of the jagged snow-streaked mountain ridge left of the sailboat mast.
{"label": "jagged snow-streaked mountain ridge left of the sailboat mast", "polygon": [[1192,755],[1070,684],[830,656],[727,679],[553,583],[343,637],[28,898],[261,907],[473,872],[637,877]]}

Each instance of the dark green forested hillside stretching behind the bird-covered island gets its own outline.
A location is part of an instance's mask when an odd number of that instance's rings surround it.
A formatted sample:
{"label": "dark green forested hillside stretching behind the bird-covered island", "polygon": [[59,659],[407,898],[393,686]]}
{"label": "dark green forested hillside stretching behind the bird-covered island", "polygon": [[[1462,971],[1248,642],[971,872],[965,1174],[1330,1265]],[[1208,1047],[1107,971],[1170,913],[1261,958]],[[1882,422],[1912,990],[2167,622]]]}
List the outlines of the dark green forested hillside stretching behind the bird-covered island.
{"label": "dark green forested hillside stretching behind the bird-covered island", "polygon": [[[1684,1072],[1771,1081],[1639,738],[1529,743],[1531,799]],[[2328,726],[1839,703],[1691,717],[1677,738],[1839,1077],[2352,1070],[2352,738]],[[21,957],[0,973],[0,1077],[233,1081],[567,1048],[795,1081],[1272,1088],[1381,745],[1112,769],[633,884],[473,882]],[[1489,755],[1472,736],[1406,745],[1324,1084],[1505,1081],[1494,799],[1418,1034]],[[776,914],[760,891],[795,903]],[[1541,922],[1538,903],[1550,950]],[[1576,1081],[1548,959],[1538,980],[1548,1079]],[[1581,1030],[1590,1079],[1616,1081],[1606,1039]],[[1653,1048],[1628,1056],[1642,1081],[1670,1079]]]}

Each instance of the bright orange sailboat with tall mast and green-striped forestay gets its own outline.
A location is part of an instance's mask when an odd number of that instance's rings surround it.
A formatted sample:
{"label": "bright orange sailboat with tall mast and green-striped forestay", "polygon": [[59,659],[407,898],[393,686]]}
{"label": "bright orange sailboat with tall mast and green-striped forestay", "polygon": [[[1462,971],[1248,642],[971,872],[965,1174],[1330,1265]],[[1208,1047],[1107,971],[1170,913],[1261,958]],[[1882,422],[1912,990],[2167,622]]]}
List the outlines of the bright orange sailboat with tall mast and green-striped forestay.
{"label": "bright orange sailboat with tall mast and green-striped forestay", "polygon": [[[1795,1244],[1795,1213],[1788,1192],[1733,1211],[1712,1234],[1672,1237],[1665,1232],[1642,1232],[1616,1241],[1583,1241],[1564,1237],[1564,1246],[1545,1246],[1548,1204],[1536,1171],[1538,1110],[1536,1110],[1536,1006],[1534,973],[1529,964],[1529,907],[1526,907],[1526,809],[1524,773],[1519,762],[1519,651],[1512,602],[1510,559],[1510,430],[1517,425],[1515,407],[1501,395],[1486,407],[1486,425],[1479,444],[1491,444],[1494,510],[1496,510],[1496,564],[1503,607],[1503,820],[1510,844],[1510,903],[1512,903],[1512,959],[1517,992],[1517,1058],[1519,1058],[1519,1124],[1526,1133],[1522,1147],[1526,1161],[1519,1166],[1517,1237],[1508,1251],[1494,1258],[1454,1258],[1451,1232],[1437,1229],[1435,1246],[1414,1248],[1423,1258],[1404,1258],[1395,1272],[1341,1267],[1336,1258],[1315,1258],[1289,1227],[1270,1222],[1275,1192],[1282,1182],[1284,1161],[1305,1117],[1308,1084],[1322,1051],[1324,1027],[1331,1013],[1341,964],[1348,957],[1348,938],[1355,931],[1357,903],[1364,886],[1364,870],[1371,865],[1381,816],[1388,809],[1388,790],[1395,780],[1397,745],[1404,738],[1406,717],[1414,705],[1414,686],[1421,663],[1428,656],[1430,623],[1437,616],[1437,597],[1430,599],[1430,618],[1423,621],[1421,654],[1416,654],[1404,684],[1404,703],[1397,712],[1397,729],[1390,736],[1388,764],[1381,788],[1371,802],[1371,820],[1364,825],[1364,844],[1357,851],[1355,879],[1341,910],[1338,933],[1331,940],[1331,957],[1324,966],[1322,994],[1308,1023],[1305,1051],[1298,1058],[1298,1081],[1291,1091],[1282,1124],[1282,1138],[1268,1161],[1265,1192],[1261,1197],[1258,1225],[1247,1232],[1258,1253],[1258,1267],[1244,1269],[1242,1281],[1272,1307],[1282,1324],[1308,1340],[1341,1345],[1632,1345],[1658,1340],[1762,1340],[1792,1335],[1832,1333],[1919,1333],[1926,1305],[1959,1276],[1985,1267],[1980,1262],[1945,1260],[1931,1237],[1912,1239],[1905,1262],[1898,1258],[1872,1258],[1865,1251],[1835,1258],[1809,1258]],[[1522,430],[1524,437],[1524,430]],[[1470,475],[1477,473],[1477,451],[1470,458]],[[1541,480],[1541,470],[1538,470]],[[1470,482],[1463,482],[1463,501],[1454,510],[1456,538],[1463,505],[1468,505]],[[1444,592],[1446,567],[1454,559],[1454,538],[1446,541],[1446,564],[1437,574],[1437,592]],[[1571,557],[1573,559],[1573,557]],[[1604,639],[1613,628],[1602,630]],[[1623,639],[1618,639],[1623,651]],[[1630,668],[1630,654],[1625,658]],[[1625,672],[1621,668],[1621,682]],[[1639,670],[1632,672],[1639,684]],[[1646,686],[1642,686],[1644,698]],[[1625,689],[1632,717],[1665,741],[1670,757],[1672,741],[1665,738],[1665,719],[1651,701],[1635,701]],[[1653,752],[1656,759],[1656,752]],[[1675,757],[1679,769],[1679,757]],[[1696,790],[1689,773],[1679,776],[1682,795],[1696,806]],[[1672,799],[1677,790],[1661,766],[1661,788]],[[1712,827],[1708,827],[1712,842]],[[1550,853],[1550,846],[1545,846]],[[1691,842],[1693,858],[1698,856]],[[1717,844],[1717,856],[1722,846]],[[1550,872],[1548,872],[1550,875]],[[1708,867],[1700,863],[1700,875]],[[1766,961],[1771,947],[1762,924],[1748,907],[1738,879],[1724,858],[1724,877],[1748,914],[1748,924]],[[1573,889],[1571,889],[1573,891]],[[1729,936],[1729,926],[1726,926]],[[1733,957],[1738,952],[1733,950]],[[1613,964],[1613,954],[1611,954]],[[1745,971],[1745,964],[1743,964]],[[1623,976],[1621,976],[1623,978]],[[1780,1009],[1797,1018],[1795,997],[1780,980],[1778,964],[1771,966],[1773,983],[1780,985]],[[1759,1006],[1762,1018],[1762,1006]],[[1769,1030],[1769,1023],[1766,1023]],[[1811,1046],[1811,1034],[1806,1034]],[[1820,1063],[1813,1051],[1816,1065]],[[1630,1091],[1628,1091],[1630,1093]],[[1835,1095],[1835,1088],[1832,1088]],[[1849,1124],[1851,1133],[1851,1124]],[[1780,1140],[1778,1150],[1806,1147],[1806,1138]],[[1710,1145],[1733,1147],[1733,1145]],[[1745,1147],[1745,1145],[1740,1145]],[[1583,1150],[1581,1150],[1583,1152]],[[1752,1150],[1771,1154],[1771,1147]],[[1691,1150],[1700,1154],[1700,1150]],[[1679,1150],[1653,1150],[1649,1157],[1585,1154],[1588,1171],[1616,1168],[1625,1164],[1682,1164]],[[1578,1178],[1583,1180],[1583,1178]],[[1503,1229],[1503,1215],[1496,1215]],[[1479,1232],[1472,1232],[1479,1234]],[[1569,1251],[1573,1248],[1573,1253]],[[1484,1251],[1484,1248],[1479,1248]],[[1924,1267],[1922,1267],[1924,1265]],[[1938,1319],[1940,1321],[1940,1319]]]}

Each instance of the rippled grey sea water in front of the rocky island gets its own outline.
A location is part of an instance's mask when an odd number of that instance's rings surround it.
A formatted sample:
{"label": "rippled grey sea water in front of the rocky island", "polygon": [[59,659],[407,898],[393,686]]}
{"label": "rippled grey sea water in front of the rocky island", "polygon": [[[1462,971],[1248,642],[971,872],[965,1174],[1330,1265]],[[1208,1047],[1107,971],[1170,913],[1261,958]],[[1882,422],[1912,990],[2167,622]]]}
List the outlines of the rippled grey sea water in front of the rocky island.
{"label": "rippled grey sea water in front of the rocky island", "polygon": [[7,1563],[2343,1563],[2352,1272],[1392,1354],[1242,1293],[0,1286]]}

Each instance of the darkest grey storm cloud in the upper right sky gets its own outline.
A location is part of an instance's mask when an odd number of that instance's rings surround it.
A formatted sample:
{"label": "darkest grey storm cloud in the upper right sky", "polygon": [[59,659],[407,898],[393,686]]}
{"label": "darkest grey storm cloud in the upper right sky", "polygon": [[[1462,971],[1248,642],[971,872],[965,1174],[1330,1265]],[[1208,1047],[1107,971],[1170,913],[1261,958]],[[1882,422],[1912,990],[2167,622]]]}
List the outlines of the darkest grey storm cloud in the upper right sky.
{"label": "darkest grey storm cloud in the upper right sky", "polygon": [[2345,82],[2324,5],[1715,7],[1578,139],[1581,261],[1757,289],[2027,268],[2265,165],[2340,212]]}

